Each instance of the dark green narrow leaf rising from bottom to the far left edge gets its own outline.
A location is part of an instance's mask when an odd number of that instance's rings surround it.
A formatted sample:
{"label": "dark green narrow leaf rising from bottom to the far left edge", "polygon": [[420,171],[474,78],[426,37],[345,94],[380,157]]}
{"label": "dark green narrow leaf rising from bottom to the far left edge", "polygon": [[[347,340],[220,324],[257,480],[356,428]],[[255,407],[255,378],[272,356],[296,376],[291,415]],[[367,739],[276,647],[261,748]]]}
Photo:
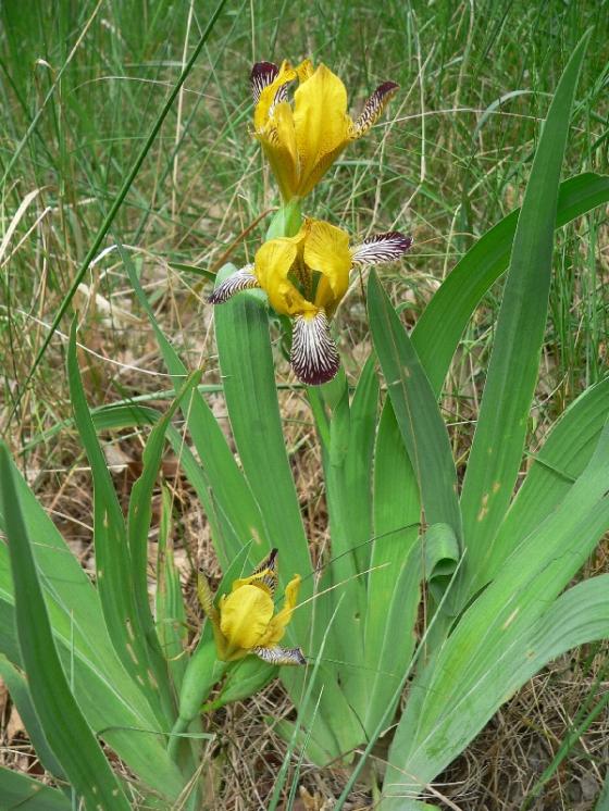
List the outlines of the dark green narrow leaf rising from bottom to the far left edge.
{"label": "dark green narrow leaf rising from bottom to the far left edge", "polygon": [[51,632],[30,540],[21,514],[9,451],[0,446],[2,512],[15,584],[17,635],[36,713],[70,782],[91,808],[128,811],[129,803],[70,690]]}

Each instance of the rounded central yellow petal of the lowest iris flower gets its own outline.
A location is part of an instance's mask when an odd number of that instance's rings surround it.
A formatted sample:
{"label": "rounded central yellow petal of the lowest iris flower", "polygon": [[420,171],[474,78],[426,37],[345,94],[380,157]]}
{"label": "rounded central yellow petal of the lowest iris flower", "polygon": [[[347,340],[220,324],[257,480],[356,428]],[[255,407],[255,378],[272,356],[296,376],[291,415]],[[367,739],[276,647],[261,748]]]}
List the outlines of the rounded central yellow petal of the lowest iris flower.
{"label": "rounded central yellow petal of the lowest iris flower", "polygon": [[256,586],[241,586],[220,601],[220,628],[231,650],[260,645],[273,616],[273,600]]}

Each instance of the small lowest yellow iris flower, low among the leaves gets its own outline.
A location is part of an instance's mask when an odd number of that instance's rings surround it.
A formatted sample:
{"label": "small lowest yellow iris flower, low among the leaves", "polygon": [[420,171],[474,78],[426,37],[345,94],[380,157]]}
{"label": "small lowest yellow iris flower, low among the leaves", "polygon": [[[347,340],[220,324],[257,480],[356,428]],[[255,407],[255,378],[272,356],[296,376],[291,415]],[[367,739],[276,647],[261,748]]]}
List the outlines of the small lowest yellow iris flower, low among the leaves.
{"label": "small lowest yellow iris flower, low among the leaves", "polygon": [[223,662],[254,653],[270,664],[304,664],[300,648],[277,645],[298,600],[300,575],[294,575],[287,584],[284,606],[275,613],[276,557],[277,550],[273,549],[249,577],[236,579],[231,594],[220,598],[217,608],[206,578],[199,578],[199,600],[212,623],[217,657]]}

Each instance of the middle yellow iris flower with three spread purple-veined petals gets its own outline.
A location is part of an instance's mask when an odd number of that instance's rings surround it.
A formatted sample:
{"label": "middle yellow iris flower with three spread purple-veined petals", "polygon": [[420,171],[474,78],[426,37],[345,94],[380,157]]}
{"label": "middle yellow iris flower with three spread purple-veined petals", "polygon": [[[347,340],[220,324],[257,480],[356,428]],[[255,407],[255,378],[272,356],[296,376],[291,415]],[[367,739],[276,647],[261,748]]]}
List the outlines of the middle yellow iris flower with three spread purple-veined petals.
{"label": "middle yellow iris flower with three spread purple-veined petals", "polygon": [[221,304],[240,290],[262,288],[275,312],[294,320],[290,363],[297,377],[316,386],[332,379],[340,364],[328,322],[347,292],[353,264],[399,259],[411,245],[411,237],[394,230],[351,248],[341,228],[304,220],[296,236],[264,242],[254,264],[228,276],[209,300]]}

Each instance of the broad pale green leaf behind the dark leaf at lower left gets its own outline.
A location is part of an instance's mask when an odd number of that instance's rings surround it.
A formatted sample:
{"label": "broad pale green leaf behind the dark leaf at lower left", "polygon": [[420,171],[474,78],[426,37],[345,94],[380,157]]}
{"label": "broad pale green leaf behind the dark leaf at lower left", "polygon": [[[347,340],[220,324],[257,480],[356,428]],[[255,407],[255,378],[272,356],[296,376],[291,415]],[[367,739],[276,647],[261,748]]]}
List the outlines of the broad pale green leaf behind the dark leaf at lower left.
{"label": "broad pale green leaf behind the dark leaf at lower left", "polygon": [[[97,591],[12,461],[10,465],[28,536],[35,539],[32,550],[55,644],[88,723],[147,785],[177,797],[183,781],[161,746],[163,727],[112,647]],[[1,503],[0,525],[7,533]],[[0,544],[0,650],[23,667],[13,632],[14,599],[9,550]]]}

